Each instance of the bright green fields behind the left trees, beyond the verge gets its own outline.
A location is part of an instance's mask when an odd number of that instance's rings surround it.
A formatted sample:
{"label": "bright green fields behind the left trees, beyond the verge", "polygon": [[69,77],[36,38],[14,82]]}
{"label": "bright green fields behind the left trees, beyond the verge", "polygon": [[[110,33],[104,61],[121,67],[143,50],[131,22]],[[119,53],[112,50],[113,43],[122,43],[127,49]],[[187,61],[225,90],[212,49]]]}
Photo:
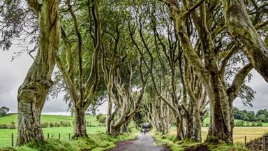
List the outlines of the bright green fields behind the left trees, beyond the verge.
{"label": "bright green fields behind the left trees, beyond the verge", "polygon": [[[73,123],[74,117],[67,115],[42,115],[41,122],[70,122]],[[94,137],[94,134],[98,134],[105,131],[104,124],[99,123],[96,120],[96,116],[87,115],[87,122],[91,127],[87,127],[87,134]],[[10,124],[11,121],[17,125],[17,114],[9,114],[0,117],[0,124]],[[50,138],[59,138],[59,134],[62,141],[68,141],[69,134],[73,134],[73,127],[47,127],[43,128],[43,133],[47,138],[48,134]],[[11,145],[11,134],[14,134],[14,140],[17,138],[17,129],[0,129],[0,148]]]}

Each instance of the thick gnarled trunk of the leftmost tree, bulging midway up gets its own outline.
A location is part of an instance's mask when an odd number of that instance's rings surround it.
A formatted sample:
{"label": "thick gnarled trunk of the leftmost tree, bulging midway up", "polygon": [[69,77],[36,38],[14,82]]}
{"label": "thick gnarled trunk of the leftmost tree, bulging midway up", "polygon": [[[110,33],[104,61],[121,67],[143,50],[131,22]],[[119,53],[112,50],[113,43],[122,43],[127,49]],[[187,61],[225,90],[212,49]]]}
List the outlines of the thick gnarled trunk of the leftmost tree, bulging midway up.
{"label": "thick gnarled trunk of the leftmost tree, bulging midway up", "polygon": [[31,140],[45,141],[40,115],[52,86],[51,75],[59,50],[59,1],[45,0],[41,7],[37,7],[40,6],[38,1],[29,1],[29,6],[38,15],[39,48],[36,59],[18,90],[17,145]]}

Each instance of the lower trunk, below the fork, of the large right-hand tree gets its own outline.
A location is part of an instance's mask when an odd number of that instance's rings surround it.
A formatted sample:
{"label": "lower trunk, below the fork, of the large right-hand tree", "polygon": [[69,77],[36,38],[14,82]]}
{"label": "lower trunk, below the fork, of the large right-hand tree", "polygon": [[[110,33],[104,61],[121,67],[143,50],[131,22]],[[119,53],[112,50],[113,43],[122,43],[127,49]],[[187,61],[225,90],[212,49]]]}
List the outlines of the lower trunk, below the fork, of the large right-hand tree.
{"label": "lower trunk, below the fork, of the large right-hand tree", "polygon": [[212,89],[209,89],[208,93],[211,125],[209,126],[206,141],[209,143],[220,143],[223,141],[232,144],[232,117],[227,92],[223,88],[225,86],[217,75],[211,78],[211,85]]}

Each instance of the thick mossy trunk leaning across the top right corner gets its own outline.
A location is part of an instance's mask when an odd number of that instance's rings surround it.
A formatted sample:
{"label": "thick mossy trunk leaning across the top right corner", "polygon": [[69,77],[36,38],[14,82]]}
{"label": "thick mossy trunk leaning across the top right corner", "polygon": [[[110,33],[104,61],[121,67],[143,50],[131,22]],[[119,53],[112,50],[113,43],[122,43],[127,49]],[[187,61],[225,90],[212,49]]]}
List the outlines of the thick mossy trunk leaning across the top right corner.
{"label": "thick mossy trunk leaning across the top right corner", "polygon": [[268,82],[268,48],[253,26],[242,0],[221,0],[225,24],[232,38],[240,43],[254,69]]}

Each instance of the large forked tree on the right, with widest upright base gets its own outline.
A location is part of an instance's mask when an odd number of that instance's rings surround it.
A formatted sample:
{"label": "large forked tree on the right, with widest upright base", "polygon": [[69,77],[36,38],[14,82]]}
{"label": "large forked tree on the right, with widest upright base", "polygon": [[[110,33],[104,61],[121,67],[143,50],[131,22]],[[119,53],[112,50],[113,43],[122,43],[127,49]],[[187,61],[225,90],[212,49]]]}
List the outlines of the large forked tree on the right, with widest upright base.
{"label": "large forked tree on the right, with widest upright base", "polygon": [[[226,66],[239,48],[228,41],[223,42],[225,37],[224,26],[221,24],[223,14],[213,13],[218,9],[216,7],[218,3],[202,0],[195,3],[183,1],[181,4],[174,0],[164,2],[176,24],[175,29],[184,55],[207,90],[211,113],[207,142],[232,143],[234,127],[232,101],[238,96],[241,85],[253,69],[253,65],[251,63],[244,65],[234,75],[232,83],[226,85],[224,82]],[[215,17],[218,20],[214,22]],[[192,30],[195,30],[197,35],[191,32],[191,24],[195,25],[196,29]],[[222,44],[226,42],[229,44]],[[201,53],[198,50],[201,50]],[[222,52],[225,55],[221,55]]]}

